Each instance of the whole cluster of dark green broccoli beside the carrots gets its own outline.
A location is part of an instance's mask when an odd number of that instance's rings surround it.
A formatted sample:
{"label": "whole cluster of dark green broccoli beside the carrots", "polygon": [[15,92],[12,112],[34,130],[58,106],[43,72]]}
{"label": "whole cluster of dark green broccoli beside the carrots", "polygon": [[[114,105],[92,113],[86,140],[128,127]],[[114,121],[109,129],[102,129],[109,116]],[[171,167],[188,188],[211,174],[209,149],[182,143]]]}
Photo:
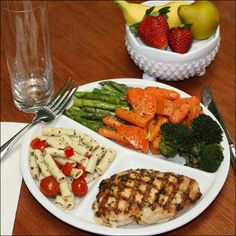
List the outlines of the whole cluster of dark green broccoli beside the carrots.
{"label": "whole cluster of dark green broccoli beside the carrots", "polygon": [[160,152],[166,157],[179,154],[185,165],[215,172],[224,158],[222,134],[218,123],[204,114],[192,121],[192,128],[168,122],[161,126]]}

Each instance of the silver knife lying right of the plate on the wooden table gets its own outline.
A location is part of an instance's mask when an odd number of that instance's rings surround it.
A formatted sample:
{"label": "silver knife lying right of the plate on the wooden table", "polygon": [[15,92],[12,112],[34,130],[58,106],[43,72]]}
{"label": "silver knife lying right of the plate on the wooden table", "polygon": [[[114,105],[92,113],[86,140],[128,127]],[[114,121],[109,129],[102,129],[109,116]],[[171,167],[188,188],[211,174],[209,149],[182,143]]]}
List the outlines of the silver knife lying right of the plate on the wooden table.
{"label": "silver knife lying right of the plate on the wooden table", "polygon": [[228,143],[229,143],[231,163],[234,168],[234,171],[236,172],[236,169],[235,169],[235,166],[236,166],[235,146],[234,146],[233,141],[229,135],[229,131],[227,130],[227,128],[224,124],[224,121],[217,109],[216,103],[215,103],[214,98],[211,94],[211,90],[210,90],[209,86],[204,87],[204,89],[202,90],[202,104],[211,111],[211,113],[216,117],[216,119],[221,124],[221,126],[225,132],[225,135],[227,137]]}

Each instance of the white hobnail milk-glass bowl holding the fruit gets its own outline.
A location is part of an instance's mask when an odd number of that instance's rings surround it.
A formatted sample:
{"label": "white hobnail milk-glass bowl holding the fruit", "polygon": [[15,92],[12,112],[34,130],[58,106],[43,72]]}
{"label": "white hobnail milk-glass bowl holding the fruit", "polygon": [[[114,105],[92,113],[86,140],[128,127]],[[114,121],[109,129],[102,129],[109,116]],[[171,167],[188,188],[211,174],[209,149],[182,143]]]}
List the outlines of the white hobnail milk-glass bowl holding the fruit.
{"label": "white hobnail milk-glass bowl holding the fruit", "polygon": [[[148,1],[146,6],[163,5],[170,1]],[[160,50],[143,43],[126,25],[126,47],[134,63],[144,71],[149,80],[180,81],[193,76],[202,76],[214,60],[220,47],[220,27],[206,40],[194,40],[186,54]]]}

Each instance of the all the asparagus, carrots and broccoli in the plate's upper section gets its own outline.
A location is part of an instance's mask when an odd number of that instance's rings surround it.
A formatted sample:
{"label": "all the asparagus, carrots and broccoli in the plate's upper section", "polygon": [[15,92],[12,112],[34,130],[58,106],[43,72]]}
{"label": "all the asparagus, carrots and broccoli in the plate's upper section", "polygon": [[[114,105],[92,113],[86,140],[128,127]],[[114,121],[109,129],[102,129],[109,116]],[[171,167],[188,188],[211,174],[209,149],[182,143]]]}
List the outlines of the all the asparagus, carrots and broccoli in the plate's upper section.
{"label": "all the asparagus, carrots and broccoli in the plate's upper section", "polygon": [[76,92],[65,115],[120,145],[167,158],[182,156],[187,166],[215,172],[223,161],[220,126],[203,114],[196,96],[114,81],[91,92]]}

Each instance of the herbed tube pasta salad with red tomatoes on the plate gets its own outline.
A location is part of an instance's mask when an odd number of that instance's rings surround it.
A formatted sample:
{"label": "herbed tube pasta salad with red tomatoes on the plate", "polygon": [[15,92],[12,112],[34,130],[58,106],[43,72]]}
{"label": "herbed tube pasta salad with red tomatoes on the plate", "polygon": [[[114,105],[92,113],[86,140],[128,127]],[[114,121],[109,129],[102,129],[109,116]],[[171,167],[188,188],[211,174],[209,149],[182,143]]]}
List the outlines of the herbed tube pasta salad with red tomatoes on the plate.
{"label": "herbed tube pasta salad with red tomatoes on the plate", "polygon": [[64,210],[75,197],[87,194],[88,184],[101,176],[116,156],[114,149],[75,129],[43,127],[31,141],[29,168],[41,192]]}

